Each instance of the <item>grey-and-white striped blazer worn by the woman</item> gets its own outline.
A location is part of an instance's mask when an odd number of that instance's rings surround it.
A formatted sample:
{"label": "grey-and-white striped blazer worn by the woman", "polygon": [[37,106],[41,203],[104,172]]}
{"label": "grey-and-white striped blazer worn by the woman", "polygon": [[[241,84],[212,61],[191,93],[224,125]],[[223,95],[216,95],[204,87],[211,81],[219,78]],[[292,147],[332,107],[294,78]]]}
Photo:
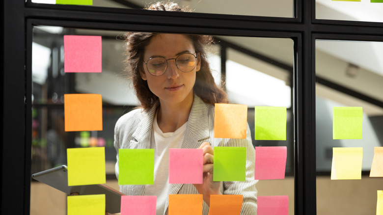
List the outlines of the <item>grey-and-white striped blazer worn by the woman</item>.
{"label": "grey-and-white striped blazer worn by the woman", "polygon": [[[114,129],[114,147],[117,150],[115,172],[118,178],[118,149],[149,149],[153,118],[158,107],[143,111],[135,109],[121,116]],[[187,122],[182,148],[198,148],[203,142],[211,146],[246,147],[246,181],[221,183],[221,193],[243,195],[241,215],[256,215],[257,190],[254,180],[255,150],[251,144],[250,130],[247,125],[246,139],[214,138],[214,106],[205,104],[194,95],[192,109]],[[144,185],[120,185],[120,191],[126,195],[145,195]],[[192,184],[171,184],[168,194],[198,194]],[[168,214],[169,198],[166,200],[164,215]],[[209,207],[203,203],[203,215],[208,215]]]}

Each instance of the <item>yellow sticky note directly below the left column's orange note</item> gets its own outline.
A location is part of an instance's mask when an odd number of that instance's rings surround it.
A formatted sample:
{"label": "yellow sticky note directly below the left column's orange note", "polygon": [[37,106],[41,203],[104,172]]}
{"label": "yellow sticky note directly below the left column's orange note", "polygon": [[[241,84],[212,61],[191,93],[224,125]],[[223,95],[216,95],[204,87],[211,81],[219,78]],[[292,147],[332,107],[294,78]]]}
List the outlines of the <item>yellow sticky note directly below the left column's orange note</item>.
{"label": "yellow sticky note directly below the left column's orange note", "polygon": [[67,149],[68,185],[105,184],[105,148]]}

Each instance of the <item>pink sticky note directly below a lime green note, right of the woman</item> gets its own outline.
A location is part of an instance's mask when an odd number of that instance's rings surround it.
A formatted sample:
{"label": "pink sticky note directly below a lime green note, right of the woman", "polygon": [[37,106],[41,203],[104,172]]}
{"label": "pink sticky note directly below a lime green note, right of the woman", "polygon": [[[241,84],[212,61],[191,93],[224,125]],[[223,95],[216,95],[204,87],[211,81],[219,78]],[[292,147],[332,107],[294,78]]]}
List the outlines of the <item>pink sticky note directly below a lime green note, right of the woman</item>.
{"label": "pink sticky note directly below a lime green note, right of the woman", "polygon": [[286,159],[286,146],[255,147],[254,179],[284,179]]}

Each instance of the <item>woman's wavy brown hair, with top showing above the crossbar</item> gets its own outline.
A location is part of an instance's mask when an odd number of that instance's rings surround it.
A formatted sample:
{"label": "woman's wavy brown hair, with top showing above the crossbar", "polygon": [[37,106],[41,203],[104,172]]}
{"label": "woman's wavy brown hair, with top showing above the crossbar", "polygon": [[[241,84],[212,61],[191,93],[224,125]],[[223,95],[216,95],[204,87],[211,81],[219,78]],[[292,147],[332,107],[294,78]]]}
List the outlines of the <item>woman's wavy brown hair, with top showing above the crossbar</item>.
{"label": "woman's wavy brown hair, with top showing above the crossbar", "polygon": [[[174,2],[157,2],[145,8],[147,10],[163,10],[163,11],[178,11],[189,12],[185,8],[181,8]],[[158,97],[154,95],[147,81],[142,80],[140,70],[143,71],[143,54],[145,47],[149,44],[150,39],[157,33],[151,32],[128,32],[125,36],[126,55],[125,70],[129,78],[132,79],[133,86],[136,90],[136,95],[141,103],[142,108],[152,108],[158,101]],[[196,73],[193,93],[200,97],[205,103],[214,105],[215,103],[227,103],[226,93],[219,88],[214,82],[207,55],[204,46],[213,42],[212,36],[186,34],[195,48],[198,58],[201,61],[201,68]]]}

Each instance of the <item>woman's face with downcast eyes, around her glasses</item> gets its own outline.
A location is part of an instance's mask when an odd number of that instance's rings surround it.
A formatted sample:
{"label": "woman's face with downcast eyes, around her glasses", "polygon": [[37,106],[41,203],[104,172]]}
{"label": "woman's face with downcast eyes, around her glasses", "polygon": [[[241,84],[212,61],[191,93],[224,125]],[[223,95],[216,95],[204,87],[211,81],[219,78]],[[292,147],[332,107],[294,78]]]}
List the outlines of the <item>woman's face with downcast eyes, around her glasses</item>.
{"label": "woman's face with downcast eyes, around her glasses", "polygon": [[[145,47],[144,61],[147,62],[151,57],[164,57],[165,59],[176,58],[179,54],[192,53],[195,49],[192,41],[182,34],[157,34],[152,37],[149,45]],[[167,61],[167,70],[161,76],[153,76],[142,63],[141,78],[148,81],[150,91],[159,99],[160,103],[176,104],[193,99],[193,86],[195,83],[195,73],[200,69],[200,61],[197,58],[197,65],[188,73],[180,71],[175,60]]]}

